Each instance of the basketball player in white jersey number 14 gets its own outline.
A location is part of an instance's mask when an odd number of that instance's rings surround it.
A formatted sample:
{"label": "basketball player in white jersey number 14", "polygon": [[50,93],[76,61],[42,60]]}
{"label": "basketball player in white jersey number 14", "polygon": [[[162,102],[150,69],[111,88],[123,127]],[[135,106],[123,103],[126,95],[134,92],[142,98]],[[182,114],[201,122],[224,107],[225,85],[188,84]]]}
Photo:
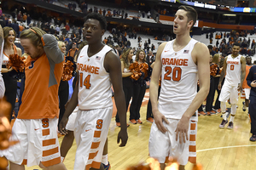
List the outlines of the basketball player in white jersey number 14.
{"label": "basketball player in white jersey number 14", "polygon": [[121,123],[119,146],[125,146],[128,138],[120,60],[112,48],[102,43],[106,29],[107,22],[101,14],[86,15],[84,37],[88,45],[79,54],[78,82],[60,123],[61,133],[67,133],[68,116],[79,104],[74,128],[77,151],[73,169],[76,170],[103,169],[102,151],[113,113],[111,82]]}

